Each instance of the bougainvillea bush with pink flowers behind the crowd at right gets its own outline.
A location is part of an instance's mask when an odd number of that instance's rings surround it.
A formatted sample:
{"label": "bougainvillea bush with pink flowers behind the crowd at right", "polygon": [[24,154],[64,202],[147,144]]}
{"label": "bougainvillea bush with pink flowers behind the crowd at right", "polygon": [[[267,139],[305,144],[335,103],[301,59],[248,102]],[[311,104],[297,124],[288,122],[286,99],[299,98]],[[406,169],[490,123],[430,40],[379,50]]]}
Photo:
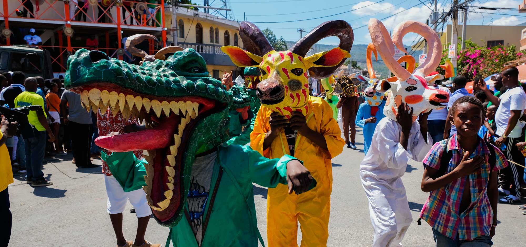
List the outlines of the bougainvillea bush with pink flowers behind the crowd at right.
{"label": "bougainvillea bush with pink flowers behind the crowd at right", "polygon": [[[460,46],[460,44],[459,44]],[[448,60],[448,47],[442,51],[442,61]],[[466,49],[457,48],[457,75],[464,75],[472,80],[476,76],[482,78],[499,73],[508,61],[518,59],[522,53],[516,52],[515,46],[478,46],[471,39],[466,40]],[[444,70],[437,70],[443,75]]]}

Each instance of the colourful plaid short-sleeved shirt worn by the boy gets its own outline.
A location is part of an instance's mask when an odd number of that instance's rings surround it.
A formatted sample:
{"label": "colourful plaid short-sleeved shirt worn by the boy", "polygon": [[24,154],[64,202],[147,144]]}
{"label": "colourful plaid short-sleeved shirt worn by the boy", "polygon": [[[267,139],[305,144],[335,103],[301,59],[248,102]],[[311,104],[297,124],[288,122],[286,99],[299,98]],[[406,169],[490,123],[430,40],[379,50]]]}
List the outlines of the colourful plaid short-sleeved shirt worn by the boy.
{"label": "colourful plaid short-sleeved shirt worn by the boy", "polygon": [[[490,176],[490,165],[488,159],[490,151],[485,142],[479,138],[479,145],[471,154],[471,158],[480,155],[485,159],[481,169],[454,180],[447,186],[430,192],[429,198],[420,212],[420,218],[433,227],[434,230],[455,239],[457,235],[460,240],[473,240],[478,236],[489,235],[493,223],[493,210],[491,209],[488,198],[488,180]],[[452,157],[449,161],[447,172],[455,169],[462,159],[462,148],[457,142],[457,134],[447,140],[442,140],[433,145],[423,163],[431,168],[440,168],[440,157],[443,152],[452,150]],[[446,147],[447,146],[447,147]],[[508,161],[502,152],[491,146],[495,150],[495,166],[493,171],[498,171],[508,166]],[[445,150],[444,150],[445,149]],[[469,180],[468,180],[469,177]],[[469,187],[466,186],[469,182]],[[470,189],[471,205],[468,209],[459,214],[460,201],[464,188]]]}

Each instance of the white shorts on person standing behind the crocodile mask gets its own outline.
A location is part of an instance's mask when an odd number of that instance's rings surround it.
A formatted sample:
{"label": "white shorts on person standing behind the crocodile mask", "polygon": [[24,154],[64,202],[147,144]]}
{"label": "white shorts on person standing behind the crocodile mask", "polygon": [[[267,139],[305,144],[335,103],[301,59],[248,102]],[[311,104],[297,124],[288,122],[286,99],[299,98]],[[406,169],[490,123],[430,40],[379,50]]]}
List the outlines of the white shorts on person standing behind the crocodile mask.
{"label": "white shorts on person standing behind the crocodile mask", "polygon": [[150,206],[146,201],[146,193],[142,189],[124,192],[123,187],[113,176],[104,176],[106,193],[108,193],[108,213],[122,213],[126,208],[126,202],[130,200],[135,208],[137,218],[146,217],[151,214]]}

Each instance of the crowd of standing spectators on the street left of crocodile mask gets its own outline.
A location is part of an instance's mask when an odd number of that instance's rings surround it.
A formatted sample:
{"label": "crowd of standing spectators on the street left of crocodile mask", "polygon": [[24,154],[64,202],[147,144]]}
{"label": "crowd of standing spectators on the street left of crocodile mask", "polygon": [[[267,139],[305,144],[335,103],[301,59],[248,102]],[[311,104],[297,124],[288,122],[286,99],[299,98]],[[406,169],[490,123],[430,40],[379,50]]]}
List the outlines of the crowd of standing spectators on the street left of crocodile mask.
{"label": "crowd of standing spectators on the street left of crocodile mask", "polygon": [[64,89],[64,79],[26,77],[22,71],[14,71],[2,73],[0,81],[0,105],[41,106],[41,110],[29,111],[29,125],[6,139],[13,173],[26,173],[26,181],[33,187],[48,186],[52,182],[44,179],[44,157],[68,152],[73,152],[78,168],[98,167],[90,157],[98,153],[97,147],[92,148],[93,113],[80,106],[80,95]]}

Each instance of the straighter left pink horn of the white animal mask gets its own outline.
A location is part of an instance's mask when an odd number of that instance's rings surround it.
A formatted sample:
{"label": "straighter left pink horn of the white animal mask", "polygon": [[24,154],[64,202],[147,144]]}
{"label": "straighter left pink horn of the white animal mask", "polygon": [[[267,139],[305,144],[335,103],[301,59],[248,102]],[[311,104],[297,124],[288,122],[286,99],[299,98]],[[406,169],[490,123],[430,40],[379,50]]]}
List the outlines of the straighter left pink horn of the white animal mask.
{"label": "straighter left pink horn of the white animal mask", "polygon": [[[368,28],[372,44],[375,45],[387,68],[389,68],[389,70],[391,70],[391,72],[401,81],[407,80],[411,76],[411,73],[400,66],[397,60],[393,58],[393,54],[395,54],[395,45],[393,44],[386,27],[380,22],[380,20],[371,18],[369,20]],[[405,51],[405,49],[403,49],[403,51]]]}

